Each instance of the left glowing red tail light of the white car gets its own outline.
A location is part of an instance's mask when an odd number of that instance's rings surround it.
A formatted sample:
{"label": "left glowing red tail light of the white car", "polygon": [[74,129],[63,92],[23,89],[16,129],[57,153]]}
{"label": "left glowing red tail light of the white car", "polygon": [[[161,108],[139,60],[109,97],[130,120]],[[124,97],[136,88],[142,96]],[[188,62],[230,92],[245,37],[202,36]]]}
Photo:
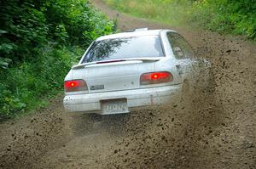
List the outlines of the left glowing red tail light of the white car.
{"label": "left glowing red tail light of the white car", "polygon": [[73,80],[64,82],[66,92],[78,92],[88,90],[84,80]]}

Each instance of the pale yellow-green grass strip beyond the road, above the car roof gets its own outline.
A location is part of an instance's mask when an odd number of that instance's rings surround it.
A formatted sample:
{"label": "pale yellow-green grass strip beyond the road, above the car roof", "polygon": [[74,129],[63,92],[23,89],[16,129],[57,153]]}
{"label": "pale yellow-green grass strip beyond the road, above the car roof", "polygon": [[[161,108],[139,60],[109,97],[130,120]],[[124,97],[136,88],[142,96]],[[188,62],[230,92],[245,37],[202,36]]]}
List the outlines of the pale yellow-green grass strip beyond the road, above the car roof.
{"label": "pale yellow-green grass strip beyond the road, above the car roof", "polygon": [[182,26],[186,23],[191,3],[187,0],[160,3],[153,0],[104,0],[111,8],[118,9],[125,14],[154,20],[172,26]]}

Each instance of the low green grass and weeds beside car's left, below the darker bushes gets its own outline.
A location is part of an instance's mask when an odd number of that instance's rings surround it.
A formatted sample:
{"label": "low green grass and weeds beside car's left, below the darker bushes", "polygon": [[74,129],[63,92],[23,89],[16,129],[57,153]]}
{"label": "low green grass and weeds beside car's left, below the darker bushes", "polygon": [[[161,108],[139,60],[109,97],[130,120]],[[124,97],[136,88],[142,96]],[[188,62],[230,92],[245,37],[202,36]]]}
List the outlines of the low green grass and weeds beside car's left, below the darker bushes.
{"label": "low green grass and weeds beside car's left, below the darker bushes", "polygon": [[40,58],[0,72],[0,120],[29,114],[63,91],[63,79],[84,48],[41,48]]}

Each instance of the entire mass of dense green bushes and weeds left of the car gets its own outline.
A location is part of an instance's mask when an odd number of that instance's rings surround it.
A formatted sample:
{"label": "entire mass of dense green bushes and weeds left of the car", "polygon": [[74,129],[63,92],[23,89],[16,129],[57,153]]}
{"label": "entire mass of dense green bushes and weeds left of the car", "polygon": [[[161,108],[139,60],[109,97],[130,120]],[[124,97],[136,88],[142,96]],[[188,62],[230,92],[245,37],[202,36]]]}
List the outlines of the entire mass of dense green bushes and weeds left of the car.
{"label": "entire mass of dense green bushes and weeds left of the car", "polygon": [[90,42],[114,24],[86,0],[2,0],[0,120],[46,104]]}

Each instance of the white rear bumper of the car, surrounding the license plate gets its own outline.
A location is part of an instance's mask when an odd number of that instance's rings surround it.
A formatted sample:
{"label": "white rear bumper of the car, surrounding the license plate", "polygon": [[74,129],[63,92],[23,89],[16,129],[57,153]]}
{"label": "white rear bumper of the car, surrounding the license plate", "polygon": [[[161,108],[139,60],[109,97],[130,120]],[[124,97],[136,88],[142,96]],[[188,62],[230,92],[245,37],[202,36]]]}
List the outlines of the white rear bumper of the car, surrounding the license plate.
{"label": "white rear bumper of the car, surrounding the license plate", "polygon": [[106,93],[66,95],[63,104],[65,109],[70,112],[102,114],[103,100],[126,99],[128,108],[166,104],[172,97],[181,92],[181,88],[182,85],[179,84]]}

